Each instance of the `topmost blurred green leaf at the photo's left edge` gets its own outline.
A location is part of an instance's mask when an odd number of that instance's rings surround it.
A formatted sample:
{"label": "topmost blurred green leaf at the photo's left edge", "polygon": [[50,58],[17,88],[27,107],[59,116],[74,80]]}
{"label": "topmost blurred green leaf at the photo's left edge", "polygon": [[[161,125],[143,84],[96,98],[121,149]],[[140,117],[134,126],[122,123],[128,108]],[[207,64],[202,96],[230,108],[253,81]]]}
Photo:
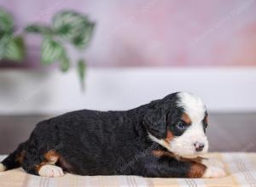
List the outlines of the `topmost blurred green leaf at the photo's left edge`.
{"label": "topmost blurred green leaf at the photo's left edge", "polygon": [[0,8],[0,31],[11,33],[14,30],[14,20],[4,8]]}

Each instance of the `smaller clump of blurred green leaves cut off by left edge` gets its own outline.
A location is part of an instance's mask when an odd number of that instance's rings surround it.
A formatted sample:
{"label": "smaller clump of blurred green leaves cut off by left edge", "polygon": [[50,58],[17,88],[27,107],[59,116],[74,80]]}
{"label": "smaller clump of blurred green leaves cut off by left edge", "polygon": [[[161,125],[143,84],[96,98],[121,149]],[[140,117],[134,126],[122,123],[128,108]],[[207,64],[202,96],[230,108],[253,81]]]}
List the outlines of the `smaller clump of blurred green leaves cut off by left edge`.
{"label": "smaller clump of blurred green leaves cut off by left edge", "polygon": [[21,61],[26,55],[23,37],[14,34],[14,19],[8,11],[0,8],[0,60]]}

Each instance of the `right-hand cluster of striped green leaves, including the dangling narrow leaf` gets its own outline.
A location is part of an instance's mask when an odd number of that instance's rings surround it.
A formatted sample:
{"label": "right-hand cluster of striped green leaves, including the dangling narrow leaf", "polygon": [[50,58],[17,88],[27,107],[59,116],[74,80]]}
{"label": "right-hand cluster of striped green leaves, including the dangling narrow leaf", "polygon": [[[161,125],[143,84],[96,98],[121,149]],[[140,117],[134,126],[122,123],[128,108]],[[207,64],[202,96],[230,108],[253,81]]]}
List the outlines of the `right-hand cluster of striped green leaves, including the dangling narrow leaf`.
{"label": "right-hand cluster of striped green leaves, including the dangling narrow leaf", "polygon": [[[65,44],[70,44],[81,51],[90,42],[95,24],[88,20],[84,14],[74,11],[61,11],[55,14],[50,25],[32,24],[26,27],[26,32],[42,35],[41,61],[45,65],[58,62],[61,71],[67,71],[70,58]],[[77,62],[79,78],[84,86],[85,60]]]}

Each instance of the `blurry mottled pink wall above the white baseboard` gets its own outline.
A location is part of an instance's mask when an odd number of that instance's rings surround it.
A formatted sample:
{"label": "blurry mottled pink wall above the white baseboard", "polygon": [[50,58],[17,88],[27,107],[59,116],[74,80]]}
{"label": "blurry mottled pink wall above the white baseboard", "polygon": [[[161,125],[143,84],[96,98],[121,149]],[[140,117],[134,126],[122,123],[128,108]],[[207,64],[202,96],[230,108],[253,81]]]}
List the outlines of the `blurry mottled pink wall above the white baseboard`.
{"label": "blurry mottled pink wall above the white baseboard", "polygon": [[[1,0],[17,30],[62,8],[97,23],[84,53],[92,66],[256,65],[256,0]],[[27,38],[38,62],[37,38]],[[33,52],[32,52],[33,51]],[[72,55],[75,57],[76,54]]]}

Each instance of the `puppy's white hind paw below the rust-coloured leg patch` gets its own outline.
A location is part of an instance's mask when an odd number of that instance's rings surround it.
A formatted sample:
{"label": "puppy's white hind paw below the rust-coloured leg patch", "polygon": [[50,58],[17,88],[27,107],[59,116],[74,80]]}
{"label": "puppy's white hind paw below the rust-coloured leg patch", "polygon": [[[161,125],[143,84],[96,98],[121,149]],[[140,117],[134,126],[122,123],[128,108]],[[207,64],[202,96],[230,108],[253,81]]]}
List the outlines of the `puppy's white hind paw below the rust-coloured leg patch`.
{"label": "puppy's white hind paw below the rust-coloured leg patch", "polygon": [[64,175],[61,167],[56,167],[53,165],[44,165],[40,167],[38,174],[42,177],[57,178]]}

